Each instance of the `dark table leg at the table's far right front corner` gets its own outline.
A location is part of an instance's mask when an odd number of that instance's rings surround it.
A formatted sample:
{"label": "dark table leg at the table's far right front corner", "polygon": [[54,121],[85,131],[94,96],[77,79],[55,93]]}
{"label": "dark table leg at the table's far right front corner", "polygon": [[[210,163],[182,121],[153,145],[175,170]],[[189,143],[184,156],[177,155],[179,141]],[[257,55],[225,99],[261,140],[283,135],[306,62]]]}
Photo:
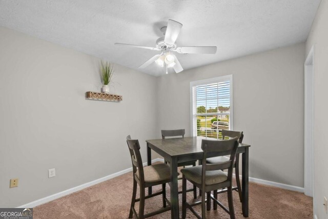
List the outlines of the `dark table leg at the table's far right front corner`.
{"label": "dark table leg at the table's far right front corner", "polygon": [[242,153],[242,215],[248,217],[248,165],[249,165],[249,148],[245,148],[245,152]]}

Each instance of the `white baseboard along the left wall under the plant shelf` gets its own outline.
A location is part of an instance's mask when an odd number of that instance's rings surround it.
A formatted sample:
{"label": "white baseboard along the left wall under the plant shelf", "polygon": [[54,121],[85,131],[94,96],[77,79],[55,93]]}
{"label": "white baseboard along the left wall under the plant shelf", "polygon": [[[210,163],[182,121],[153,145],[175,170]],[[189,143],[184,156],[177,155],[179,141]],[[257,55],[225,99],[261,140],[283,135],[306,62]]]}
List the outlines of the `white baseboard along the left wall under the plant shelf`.
{"label": "white baseboard along the left wall under the plant shelf", "polygon": [[[164,160],[161,159],[161,158],[156,158],[156,159],[152,160],[152,163],[155,163],[155,162],[163,162],[163,161]],[[144,163],[143,165],[146,166],[147,165],[147,162]],[[33,208],[35,206],[45,204],[45,203],[50,202],[50,201],[53,201],[53,200],[55,200],[55,199],[57,199],[59,197],[63,197],[65,195],[71,194],[73,192],[77,192],[79,190],[82,190],[82,189],[85,189],[87,187],[96,185],[98,183],[101,183],[101,182],[110,180],[111,178],[114,178],[116,176],[119,176],[119,175],[122,175],[122,174],[125,174],[125,173],[128,173],[128,172],[131,172],[131,171],[132,171],[132,167],[131,168],[128,168],[128,169],[125,169],[125,170],[121,170],[121,171],[116,172],[116,173],[113,173],[113,174],[110,174],[108,176],[104,176],[104,177],[98,178],[97,180],[94,180],[94,181],[91,181],[91,182],[88,182],[88,183],[85,183],[85,184],[82,184],[82,185],[79,185],[79,186],[76,186],[76,187],[67,189],[65,191],[61,191],[61,192],[58,192],[58,193],[49,195],[49,196],[44,197],[44,198],[40,198],[39,200],[36,200],[36,201],[30,202],[30,203],[27,203],[27,204],[22,205],[22,206],[18,206],[17,208]]]}

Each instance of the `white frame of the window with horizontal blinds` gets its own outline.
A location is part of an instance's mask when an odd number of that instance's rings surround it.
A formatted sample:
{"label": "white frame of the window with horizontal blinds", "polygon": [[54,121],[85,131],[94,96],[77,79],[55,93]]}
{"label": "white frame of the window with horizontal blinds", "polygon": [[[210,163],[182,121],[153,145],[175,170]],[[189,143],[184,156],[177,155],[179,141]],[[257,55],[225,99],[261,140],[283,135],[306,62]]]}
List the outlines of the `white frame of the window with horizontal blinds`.
{"label": "white frame of the window with horizontal blinds", "polygon": [[[228,82],[230,83],[230,113],[229,113],[229,123],[230,123],[230,130],[233,130],[233,75],[224,75],[214,78],[208,78],[208,79],[202,79],[199,81],[193,81],[190,82],[190,121],[191,121],[191,136],[197,136],[197,120],[196,116],[200,115],[199,113],[196,113],[197,106],[196,106],[196,94],[193,90],[196,86],[201,85],[209,85],[213,83],[222,83],[222,82]],[[227,113],[202,113],[202,115],[224,115]]]}

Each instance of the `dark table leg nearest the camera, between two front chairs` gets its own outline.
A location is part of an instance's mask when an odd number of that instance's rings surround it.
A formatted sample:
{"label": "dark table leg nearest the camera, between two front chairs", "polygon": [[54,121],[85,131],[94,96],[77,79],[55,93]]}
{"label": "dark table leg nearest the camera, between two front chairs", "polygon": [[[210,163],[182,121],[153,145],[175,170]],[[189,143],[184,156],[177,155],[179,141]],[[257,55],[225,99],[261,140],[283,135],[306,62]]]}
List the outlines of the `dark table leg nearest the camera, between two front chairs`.
{"label": "dark table leg nearest the camera, between two front chairs", "polygon": [[178,195],[178,162],[172,157],[171,164],[171,218],[179,218],[179,195]]}

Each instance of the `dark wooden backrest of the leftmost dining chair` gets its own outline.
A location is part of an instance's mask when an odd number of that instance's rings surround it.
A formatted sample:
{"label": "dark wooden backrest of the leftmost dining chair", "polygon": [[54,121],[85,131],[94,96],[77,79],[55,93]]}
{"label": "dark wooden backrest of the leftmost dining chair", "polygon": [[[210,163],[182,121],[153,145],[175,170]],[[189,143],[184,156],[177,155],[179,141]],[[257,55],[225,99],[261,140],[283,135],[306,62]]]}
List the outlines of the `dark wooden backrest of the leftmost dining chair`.
{"label": "dark wooden backrest of the leftmost dining chair", "polygon": [[130,151],[133,174],[139,171],[139,180],[144,181],[144,166],[142,166],[142,159],[140,155],[140,145],[138,140],[132,140],[131,136],[127,136],[127,143]]}

